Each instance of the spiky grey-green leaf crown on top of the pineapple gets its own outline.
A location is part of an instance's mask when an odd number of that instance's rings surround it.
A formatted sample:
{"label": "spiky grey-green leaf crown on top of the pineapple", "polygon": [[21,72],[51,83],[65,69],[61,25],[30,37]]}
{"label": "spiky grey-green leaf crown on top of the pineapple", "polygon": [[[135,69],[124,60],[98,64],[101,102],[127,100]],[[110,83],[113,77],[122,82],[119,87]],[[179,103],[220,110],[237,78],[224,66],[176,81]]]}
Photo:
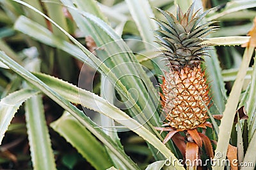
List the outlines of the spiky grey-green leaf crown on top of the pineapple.
{"label": "spiky grey-green leaf crown on top of the pineapple", "polygon": [[166,22],[153,18],[160,25],[160,29],[154,31],[156,38],[159,39],[156,43],[165,48],[165,50],[161,50],[159,56],[166,57],[168,65],[173,69],[197,66],[204,61],[202,56],[209,56],[205,50],[211,49],[209,48],[211,44],[202,45],[200,43],[206,40],[205,36],[216,30],[216,26],[209,26],[216,21],[198,26],[210,10],[202,14],[198,14],[200,10],[193,13],[194,6],[195,3],[191,4],[186,13],[182,13],[177,6],[177,17],[168,11],[157,8],[166,18]]}

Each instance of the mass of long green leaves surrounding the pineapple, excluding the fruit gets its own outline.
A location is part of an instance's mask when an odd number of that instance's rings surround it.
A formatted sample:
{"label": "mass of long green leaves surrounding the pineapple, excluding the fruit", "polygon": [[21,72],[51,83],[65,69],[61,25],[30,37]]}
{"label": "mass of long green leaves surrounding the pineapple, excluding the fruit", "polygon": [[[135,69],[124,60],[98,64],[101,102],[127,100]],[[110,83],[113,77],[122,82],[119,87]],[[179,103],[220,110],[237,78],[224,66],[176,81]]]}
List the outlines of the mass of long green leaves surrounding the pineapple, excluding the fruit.
{"label": "mass of long green leaves surrounding the pineapple, excluding the fruit", "polygon": [[[166,159],[181,159],[154,129],[166,67],[151,18],[162,17],[154,7],[175,13],[191,3],[0,0],[0,169],[166,169]],[[224,158],[230,143],[239,163],[255,165],[255,54],[240,45],[250,39],[256,1],[196,0],[196,9],[212,7],[205,21],[220,21],[220,30],[209,37],[216,46],[204,67],[209,115],[223,119],[209,119],[207,136]],[[234,124],[242,106],[248,120]]]}

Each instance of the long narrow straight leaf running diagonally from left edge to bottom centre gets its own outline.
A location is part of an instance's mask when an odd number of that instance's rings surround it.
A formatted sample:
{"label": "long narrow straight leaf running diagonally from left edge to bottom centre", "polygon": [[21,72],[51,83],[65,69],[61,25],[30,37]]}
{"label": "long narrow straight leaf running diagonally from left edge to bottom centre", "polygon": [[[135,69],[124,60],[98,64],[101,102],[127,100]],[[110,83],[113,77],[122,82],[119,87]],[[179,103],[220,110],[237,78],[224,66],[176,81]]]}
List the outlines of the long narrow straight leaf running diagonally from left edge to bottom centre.
{"label": "long narrow straight leaf running diagonally from left edge to bottom centre", "polygon": [[[44,82],[36,78],[33,74],[29,73],[24,67],[17,64],[15,61],[10,59],[4,52],[0,52],[0,61],[6,64],[6,66],[10,67],[15,73],[19,74],[24,78],[24,80],[36,86],[36,88],[40,89],[47,96],[51,97],[56,103],[58,103],[61,107],[67,110],[73,117],[77,118],[79,122],[81,122],[84,127],[86,127],[92,134],[94,134],[104,145],[108,146],[108,148],[115,153],[124,164],[126,164],[131,169],[138,169],[138,166],[124,153],[123,150],[119,148],[116,143],[109,138],[101,129],[95,128],[98,125],[92,122],[90,118],[86,117],[83,111],[78,110],[76,106],[69,103],[67,99],[60,96],[60,94],[56,93],[54,90],[45,85]],[[77,90],[77,89],[76,89]],[[77,92],[77,91],[76,91]],[[78,99],[79,100],[79,99]],[[90,104],[89,104],[90,105]]]}

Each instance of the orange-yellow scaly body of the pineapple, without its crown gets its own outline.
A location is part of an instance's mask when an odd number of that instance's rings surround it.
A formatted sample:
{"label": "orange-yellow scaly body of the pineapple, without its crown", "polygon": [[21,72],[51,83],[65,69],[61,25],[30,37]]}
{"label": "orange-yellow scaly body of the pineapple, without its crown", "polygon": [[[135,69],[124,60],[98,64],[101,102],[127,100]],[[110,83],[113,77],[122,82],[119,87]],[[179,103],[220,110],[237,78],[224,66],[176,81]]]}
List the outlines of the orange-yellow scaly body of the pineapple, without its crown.
{"label": "orange-yellow scaly body of the pineapple, without its crown", "polygon": [[204,124],[211,97],[205,72],[200,65],[183,67],[180,70],[170,70],[163,76],[161,94],[163,111],[166,120],[173,129],[195,129]]}

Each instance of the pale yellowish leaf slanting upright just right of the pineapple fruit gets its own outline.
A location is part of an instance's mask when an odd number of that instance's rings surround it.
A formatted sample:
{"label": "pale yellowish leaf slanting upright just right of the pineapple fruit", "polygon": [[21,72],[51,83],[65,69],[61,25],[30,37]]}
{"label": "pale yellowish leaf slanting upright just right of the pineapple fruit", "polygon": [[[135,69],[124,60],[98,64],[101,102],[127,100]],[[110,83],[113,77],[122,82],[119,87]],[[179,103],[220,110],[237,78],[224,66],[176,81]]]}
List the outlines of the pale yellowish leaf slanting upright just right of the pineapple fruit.
{"label": "pale yellowish leaf slanting upright just right of the pineapple fruit", "polygon": [[[221,154],[222,157],[214,156],[214,159],[222,161],[226,158],[227,148],[230,139],[230,134],[232,130],[233,120],[236,114],[237,104],[239,102],[239,96],[241,94],[241,89],[243,87],[244,76],[246,75],[246,70],[250,64],[250,60],[253,54],[253,47],[246,48],[243,55],[243,61],[241,67],[239,68],[239,72],[237,73],[236,81],[232,87],[230,92],[230,96],[228,97],[227,104],[225,107],[225,111],[223,113],[223,118],[221,118],[220,124],[220,133],[218,135],[218,143],[215,153]],[[212,167],[212,169],[224,169],[224,166],[218,165]]]}

